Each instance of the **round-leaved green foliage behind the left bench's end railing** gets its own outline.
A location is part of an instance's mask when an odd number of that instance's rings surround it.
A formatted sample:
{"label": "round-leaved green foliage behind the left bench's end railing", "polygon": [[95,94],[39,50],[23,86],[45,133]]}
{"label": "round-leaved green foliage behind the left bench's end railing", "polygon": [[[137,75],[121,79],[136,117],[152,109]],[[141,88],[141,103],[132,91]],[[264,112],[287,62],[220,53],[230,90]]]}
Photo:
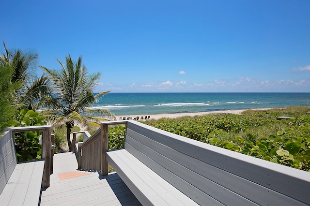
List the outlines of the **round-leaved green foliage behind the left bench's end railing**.
{"label": "round-leaved green foliage behind the left bench's end railing", "polygon": [[[46,125],[44,116],[33,110],[16,110],[9,124],[11,126],[39,126]],[[41,145],[39,144],[41,131],[19,132],[15,134],[15,149],[18,162],[41,159]]]}

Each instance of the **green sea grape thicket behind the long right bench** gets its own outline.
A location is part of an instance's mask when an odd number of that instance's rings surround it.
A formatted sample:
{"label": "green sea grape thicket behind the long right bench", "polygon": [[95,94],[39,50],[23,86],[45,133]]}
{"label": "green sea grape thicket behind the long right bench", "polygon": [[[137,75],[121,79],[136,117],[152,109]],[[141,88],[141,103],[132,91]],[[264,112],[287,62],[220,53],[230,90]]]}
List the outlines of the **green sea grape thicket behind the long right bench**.
{"label": "green sea grape thicket behind the long right bench", "polygon": [[[216,115],[195,118],[145,121],[150,126],[195,139],[217,147],[257,157],[266,161],[310,171],[310,116],[276,120],[280,112],[258,111],[251,115]],[[285,128],[268,135],[254,130]],[[125,127],[109,129],[109,149],[124,147]]]}

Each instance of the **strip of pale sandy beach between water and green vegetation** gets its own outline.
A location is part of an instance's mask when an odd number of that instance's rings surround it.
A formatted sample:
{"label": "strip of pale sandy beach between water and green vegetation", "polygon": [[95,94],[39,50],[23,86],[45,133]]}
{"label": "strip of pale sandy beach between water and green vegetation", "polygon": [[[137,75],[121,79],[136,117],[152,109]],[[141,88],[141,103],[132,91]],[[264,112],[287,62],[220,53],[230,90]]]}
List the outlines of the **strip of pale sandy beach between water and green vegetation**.
{"label": "strip of pale sandy beach between water and green vegetation", "polygon": [[[271,108],[252,108],[252,110],[268,110]],[[236,114],[236,115],[241,115],[242,112],[246,111],[248,109],[236,109],[236,110],[218,110],[218,111],[208,111],[208,112],[188,112],[188,113],[171,113],[171,114],[157,114],[157,115],[128,115],[128,116],[115,116],[116,120],[121,120],[120,118],[136,118],[139,117],[141,120],[141,117],[143,119],[145,116],[150,116],[150,119],[160,119],[160,118],[180,118],[180,117],[195,117],[195,116],[204,116],[208,114]]]}

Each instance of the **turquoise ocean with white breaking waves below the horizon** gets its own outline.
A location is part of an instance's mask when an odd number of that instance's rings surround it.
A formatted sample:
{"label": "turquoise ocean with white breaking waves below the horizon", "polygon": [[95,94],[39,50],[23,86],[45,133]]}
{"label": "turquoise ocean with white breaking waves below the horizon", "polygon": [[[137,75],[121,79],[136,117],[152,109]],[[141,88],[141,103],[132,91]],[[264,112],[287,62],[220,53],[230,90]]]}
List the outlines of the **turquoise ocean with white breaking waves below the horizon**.
{"label": "turquoise ocean with white breaking waves below the horizon", "polygon": [[310,106],[310,93],[109,93],[93,108],[116,116]]}

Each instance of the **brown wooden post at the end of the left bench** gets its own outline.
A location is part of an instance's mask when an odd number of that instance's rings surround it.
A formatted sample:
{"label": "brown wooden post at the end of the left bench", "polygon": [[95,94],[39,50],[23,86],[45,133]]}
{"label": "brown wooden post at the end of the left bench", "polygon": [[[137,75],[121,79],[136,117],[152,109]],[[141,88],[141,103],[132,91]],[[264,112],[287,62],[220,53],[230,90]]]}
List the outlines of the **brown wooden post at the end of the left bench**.
{"label": "brown wooden post at the end of the left bench", "polygon": [[50,176],[50,165],[53,163],[50,159],[51,154],[51,128],[47,128],[42,132],[42,150],[43,150],[43,156],[44,158],[44,171],[43,171],[43,181],[42,181],[42,187],[49,187],[49,176]]}

